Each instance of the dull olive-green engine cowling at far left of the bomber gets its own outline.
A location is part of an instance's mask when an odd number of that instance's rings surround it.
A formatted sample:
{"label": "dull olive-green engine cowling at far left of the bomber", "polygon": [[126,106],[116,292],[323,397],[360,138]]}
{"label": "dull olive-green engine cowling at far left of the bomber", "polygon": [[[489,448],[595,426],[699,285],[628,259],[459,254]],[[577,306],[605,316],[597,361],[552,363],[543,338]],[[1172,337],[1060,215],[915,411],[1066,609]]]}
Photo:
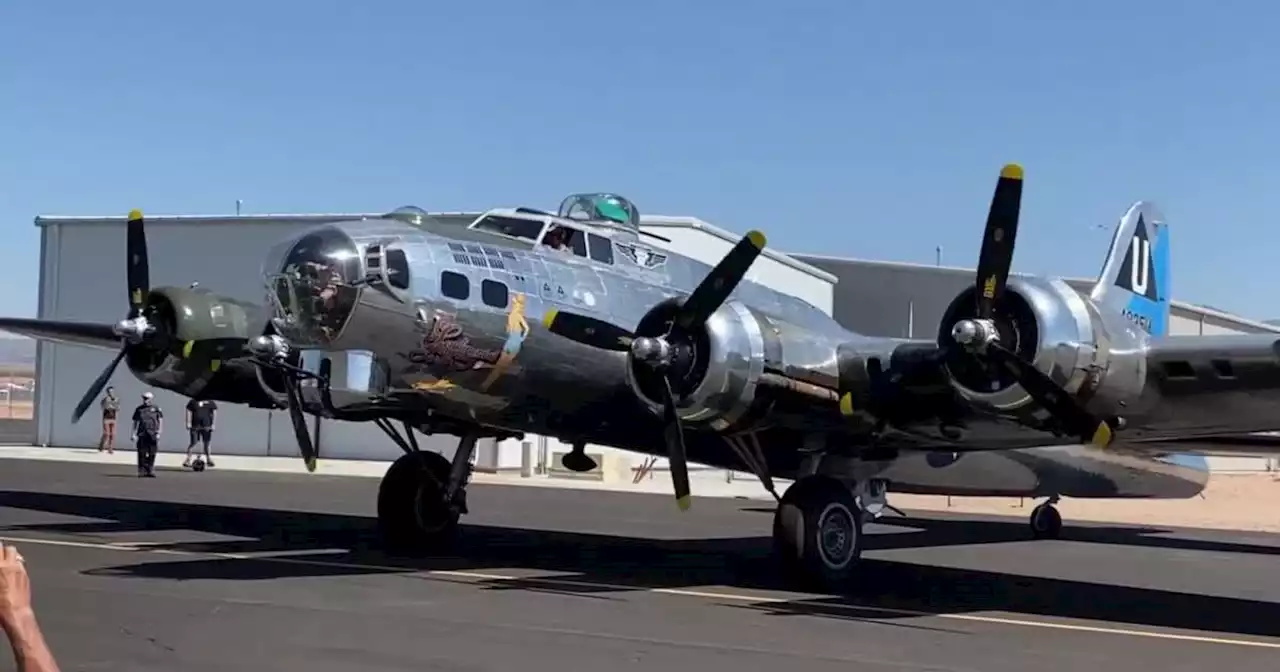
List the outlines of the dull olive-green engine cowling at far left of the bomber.
{"label": "dull olive-green engine cowling at far left of the bomber", "polygon": [[124,362],[143,383],[186,397],[201,396],[255,408],[279,407],[283,383],[246,358],[210,362],[186,358],[183,343],[209,338],[259,335],[261,308],[197,288],[157,287],[147,294],[143,315],[156,338],[128,346]]}

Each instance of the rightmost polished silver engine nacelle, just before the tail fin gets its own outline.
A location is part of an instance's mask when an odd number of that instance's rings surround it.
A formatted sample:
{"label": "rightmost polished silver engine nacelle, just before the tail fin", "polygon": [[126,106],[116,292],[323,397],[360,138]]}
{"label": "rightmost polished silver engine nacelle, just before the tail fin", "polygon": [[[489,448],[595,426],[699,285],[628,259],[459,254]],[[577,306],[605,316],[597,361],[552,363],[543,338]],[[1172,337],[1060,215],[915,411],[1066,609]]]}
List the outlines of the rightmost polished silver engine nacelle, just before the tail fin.
{"label": "rightmost polished silver engine nacelle, just before the tail fin", "polygon": [[[961,292],[943,314],[938,343],[955,343],[951,328],[975,316],[975,292]],[[1105,315],[1065,282],[1010,278],[997,306],[1001,344],[1050,375],[1094,412],[1116,415],[1142,394],[1147,380],[1146,334],[1119,315]],[[969,403],[1009,415],[1047,413],[1002,370],[984,371],[957,353],[946,362],[956,392]]]}

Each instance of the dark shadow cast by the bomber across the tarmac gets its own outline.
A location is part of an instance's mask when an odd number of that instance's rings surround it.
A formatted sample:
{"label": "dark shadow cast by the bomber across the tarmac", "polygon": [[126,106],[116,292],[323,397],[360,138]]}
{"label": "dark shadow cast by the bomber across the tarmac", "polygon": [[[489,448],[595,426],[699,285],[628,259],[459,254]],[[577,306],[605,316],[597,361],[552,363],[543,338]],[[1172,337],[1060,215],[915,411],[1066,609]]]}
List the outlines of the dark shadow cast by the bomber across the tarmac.
{"label": "dark shadow cast by the bomber across the tarmac", "polygon": [[[241,539],[175,541],[148,548],[188,553],[289,552],[287,559],[183,558],[90,570],[97,576],[168,580],[270,580],[521,567],[556,572],[552,580],[480,581],[494,589],[549,590],[604,595],[617,586],[682,588],[722,585],[792,590],[780,579],[767,536],[732,539],[643,539],[568,531],[463,525],[448,557],[404,558],[379,550],[370,517],[303,513],[228,506],[118,499],[73,494],[0,492],[0,507],[93,518],[9,526],[9,531],[114,534],[191,530]],[[868,536],[868,552],[932,545],[983,544],[1025,539],[1025,524],[896,518],[919,532]],[[1138,532],[1142,532],[1140,530]],[[1263,545],[1236,545],[1142,536],[1134,530],[1076,527],[1084,541],[1162,545],[1225,552],[1277,553]],[[150,556],[154,557],[154,556]],[[291,562],[292,561],[292,562]],[[1023,576],[868,558],[858,585],[841,596],[740,604],[776,614],[809,614],[859,621],[910,617],[904,612],[1009,612],[1106,621],[1152,627],[1280,636],[1280,604],[1169,590]],[[567,580],[567,581],[558,581]],[[1193,577],[1188,577],[1192,581]],[[594,585],[591,585],[594,584]]]}

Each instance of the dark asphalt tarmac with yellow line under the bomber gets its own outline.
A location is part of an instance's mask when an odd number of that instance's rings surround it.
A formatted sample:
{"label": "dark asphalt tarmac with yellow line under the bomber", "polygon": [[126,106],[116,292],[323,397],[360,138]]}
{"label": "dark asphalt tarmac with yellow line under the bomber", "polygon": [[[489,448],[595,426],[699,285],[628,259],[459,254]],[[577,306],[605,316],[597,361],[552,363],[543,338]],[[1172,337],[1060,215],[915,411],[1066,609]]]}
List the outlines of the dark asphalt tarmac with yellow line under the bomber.
{"label": "dark asphalt tarmac with yellow line under the bomber", "polygon": [[[64,671],[1271,671],[1280,536],[893,518],[794,591],[760,502],[477,485],[456,557],[378,550],[375,479],[0,460]],[[8,660],[0,664],[12,664]]]}

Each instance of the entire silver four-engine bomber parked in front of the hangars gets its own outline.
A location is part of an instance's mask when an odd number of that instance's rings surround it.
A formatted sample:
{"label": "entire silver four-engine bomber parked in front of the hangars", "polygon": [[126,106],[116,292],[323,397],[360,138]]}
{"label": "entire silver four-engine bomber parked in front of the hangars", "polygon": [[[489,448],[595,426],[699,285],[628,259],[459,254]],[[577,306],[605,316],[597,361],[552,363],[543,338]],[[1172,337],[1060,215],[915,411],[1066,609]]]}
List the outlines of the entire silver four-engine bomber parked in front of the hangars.
{"label": "entire silver four-engine bomber parked in front of the hangars", "polygon": [[[1093,291],[1010,279],[1023,170],[1001,172],[973,288],[932,339],[849,332],[744,275],[764,236],[714,268],[654,246],[616,195],[558,212],[490,210],[468,227],[406,207],[324,224],[273,247],[261,306],[150,287],[142,214],[127,228],[128,316],[115,325],[3,319],[0,329],[119,349],[187,397],[370,421],[404,451],[378,518],[393,547],[445,544],[466,512],[476,440],[557,436],[666,456],[687,508],[687,461],[749,470],[778,499],[773,536],[797,576],[855,575],[861,526],[888,490],[1047,498],[1188,498],[1207,483],[1181,442],[1280,430],[1280,340],[1171,337],[1169,225],[1135,204]],[[876,288],[865,288],[874,292]],[[403,426],[403,434],[397,429]],[[460,436],[452,460],[415,433]],[[778,497],[774,479],[794,481]]]}

